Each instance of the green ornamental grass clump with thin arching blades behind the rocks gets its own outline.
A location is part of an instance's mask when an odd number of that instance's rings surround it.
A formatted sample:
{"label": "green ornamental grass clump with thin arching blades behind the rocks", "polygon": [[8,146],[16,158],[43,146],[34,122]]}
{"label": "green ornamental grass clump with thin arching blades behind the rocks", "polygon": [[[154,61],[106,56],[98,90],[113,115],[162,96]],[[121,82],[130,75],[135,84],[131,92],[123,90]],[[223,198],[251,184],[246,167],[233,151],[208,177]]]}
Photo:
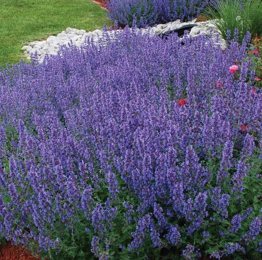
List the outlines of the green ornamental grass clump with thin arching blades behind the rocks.
{"label": "green ornamental grass clump with thin arching blades behind the rocks", "polygon": [[213,23],[221,31],[223,38],[228,38],[228,31],[233,38],[235,28],[241,42],[247,32],[252,37],[262,36],[262,1],[261,0],[219,0],[208,5],[205,15],[215,19]]}

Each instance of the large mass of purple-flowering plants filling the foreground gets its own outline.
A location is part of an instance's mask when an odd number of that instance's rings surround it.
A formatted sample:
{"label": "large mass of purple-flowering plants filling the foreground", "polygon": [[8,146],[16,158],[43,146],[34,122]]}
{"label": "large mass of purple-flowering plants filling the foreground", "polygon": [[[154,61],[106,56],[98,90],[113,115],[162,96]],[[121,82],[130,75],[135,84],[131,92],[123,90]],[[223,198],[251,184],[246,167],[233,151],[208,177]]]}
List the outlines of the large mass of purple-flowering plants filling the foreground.
{"label": "large mass of purple-flowering plants filling the foreground", "polygon": [[2,70],[1,236],[51,260],[260,259],[248,40],[223,51],[126,28]]}

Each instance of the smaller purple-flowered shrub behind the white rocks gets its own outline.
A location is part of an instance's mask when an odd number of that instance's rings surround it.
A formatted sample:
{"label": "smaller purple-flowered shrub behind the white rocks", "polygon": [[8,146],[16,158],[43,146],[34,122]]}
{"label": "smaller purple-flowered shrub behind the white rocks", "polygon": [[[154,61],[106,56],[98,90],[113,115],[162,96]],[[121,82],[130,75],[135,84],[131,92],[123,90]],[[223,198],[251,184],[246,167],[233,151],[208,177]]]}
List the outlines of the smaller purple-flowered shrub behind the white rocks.
{"label": "smaller purple-flowered shrub behind the white rocks", "polygon": [[155,24],[195,18],[208,0],[110,0],[107,8],[112,21],[132,26],[137,20],[139,28]]}

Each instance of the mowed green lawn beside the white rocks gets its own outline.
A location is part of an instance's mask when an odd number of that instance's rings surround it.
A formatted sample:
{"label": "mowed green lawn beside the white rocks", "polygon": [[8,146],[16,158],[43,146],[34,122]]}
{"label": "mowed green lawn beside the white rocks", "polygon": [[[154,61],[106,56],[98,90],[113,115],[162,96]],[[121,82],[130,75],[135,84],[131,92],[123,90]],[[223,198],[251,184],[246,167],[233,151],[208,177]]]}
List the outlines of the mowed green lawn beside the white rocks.
{"label": "mowed green lawn beside the white rocks", "polygon": [[93,31],[112,25],[92,0],[0,0],[0,65],[24,58],[21,48],[67,27]]}

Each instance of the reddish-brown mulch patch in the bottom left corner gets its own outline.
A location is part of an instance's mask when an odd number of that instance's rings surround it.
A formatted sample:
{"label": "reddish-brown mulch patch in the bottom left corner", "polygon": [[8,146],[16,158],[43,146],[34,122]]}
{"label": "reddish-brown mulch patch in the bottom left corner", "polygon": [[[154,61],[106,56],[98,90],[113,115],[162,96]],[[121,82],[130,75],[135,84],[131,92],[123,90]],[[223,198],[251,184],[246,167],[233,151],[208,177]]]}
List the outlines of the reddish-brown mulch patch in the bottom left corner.
{"label": "reddish-brown mulch patch in the bottom left corner", "polygon": [[11,245],[7,242],[6,245],[0,246],[0,260],[40,260],[33,257],[30,252],[20,246]]}

